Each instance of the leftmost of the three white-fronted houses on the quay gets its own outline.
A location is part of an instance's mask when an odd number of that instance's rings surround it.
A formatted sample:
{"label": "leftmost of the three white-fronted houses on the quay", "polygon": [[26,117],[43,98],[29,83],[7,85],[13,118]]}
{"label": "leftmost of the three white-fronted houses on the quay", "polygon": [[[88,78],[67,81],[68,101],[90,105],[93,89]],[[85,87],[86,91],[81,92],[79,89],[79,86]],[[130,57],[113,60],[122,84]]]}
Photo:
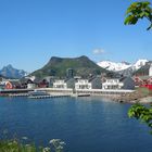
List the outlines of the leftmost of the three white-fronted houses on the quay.
{"label": "leftmost of the three white-fronted houses on the quay", "polygon": [[53,88],[67,89],[67,84],[63,79],[55,79],[53,83]]}

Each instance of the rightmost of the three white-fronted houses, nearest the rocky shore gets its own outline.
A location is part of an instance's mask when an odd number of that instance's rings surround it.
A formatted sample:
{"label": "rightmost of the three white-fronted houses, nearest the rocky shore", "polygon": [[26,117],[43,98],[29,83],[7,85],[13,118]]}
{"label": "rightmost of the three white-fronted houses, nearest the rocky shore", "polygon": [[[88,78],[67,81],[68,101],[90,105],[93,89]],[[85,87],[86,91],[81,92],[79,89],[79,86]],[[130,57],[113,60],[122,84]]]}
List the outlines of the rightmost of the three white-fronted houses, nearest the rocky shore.
{"label": "rightmost of the three white-fronted houses, nearest the rocky shore", "polygon": [[119,79],[106,79],[105,83],[102,83],[102,89],[121,89],[124,86]]}

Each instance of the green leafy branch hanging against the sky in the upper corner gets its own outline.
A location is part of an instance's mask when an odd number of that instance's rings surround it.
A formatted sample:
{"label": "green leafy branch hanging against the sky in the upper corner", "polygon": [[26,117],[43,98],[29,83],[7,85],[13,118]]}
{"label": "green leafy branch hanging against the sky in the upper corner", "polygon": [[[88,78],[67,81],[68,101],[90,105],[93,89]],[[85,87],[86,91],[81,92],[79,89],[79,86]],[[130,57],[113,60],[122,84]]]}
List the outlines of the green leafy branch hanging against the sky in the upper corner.
{"label": "green leafy branch hanging against the sky in the upper corner", "polygon": [[149,1],[132,2],[126,11],[125,25],[135,25],[139,20],[147,18],[150,26],[147,30],[152,28],[152,8]]}

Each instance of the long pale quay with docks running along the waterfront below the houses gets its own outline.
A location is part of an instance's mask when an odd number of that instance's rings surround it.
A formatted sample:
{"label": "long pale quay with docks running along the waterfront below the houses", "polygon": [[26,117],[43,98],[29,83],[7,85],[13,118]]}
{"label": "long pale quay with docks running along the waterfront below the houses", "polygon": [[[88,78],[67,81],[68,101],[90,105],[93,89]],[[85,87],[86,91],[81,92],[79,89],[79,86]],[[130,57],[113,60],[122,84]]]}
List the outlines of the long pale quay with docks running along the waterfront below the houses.
{"label": "long pale quay with docks running along the waterfront below the houses", "polygon": [[38,88],[37,91],[45,91],[48,94],[40,96],[29,96],[30,91],[34,89],[10,89],[10,90],[0,90],[1,97],[28,97],[30,99],[48,99],[48,98],[65,98],[65,97],[89,97],[89,96],[99,96],[99,97],[119,97],[126,96],[136,92],[135,90],[107,90],[107,89],[76,89],[75,92],[73,89],[56,89],[56,88]]}

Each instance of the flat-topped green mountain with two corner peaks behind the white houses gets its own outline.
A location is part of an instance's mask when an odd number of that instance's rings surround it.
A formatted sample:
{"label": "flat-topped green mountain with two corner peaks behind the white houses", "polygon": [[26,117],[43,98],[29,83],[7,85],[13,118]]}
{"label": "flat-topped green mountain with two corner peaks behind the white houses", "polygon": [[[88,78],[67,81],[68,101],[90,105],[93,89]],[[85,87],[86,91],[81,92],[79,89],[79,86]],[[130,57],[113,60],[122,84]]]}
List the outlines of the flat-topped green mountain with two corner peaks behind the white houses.
{"label": "flat-topped green mountain with two corner peaks behind the white houses", "polygon": [[52,56],[50,61],[40,69],[31,73],[31,76],[58,76],[65,77],[66,71],[72,68],[77,76],[87,77],[90,74],[101,74],[107,71],[97,65],[94,62],[83,55],[79,58],[58,58]]}

